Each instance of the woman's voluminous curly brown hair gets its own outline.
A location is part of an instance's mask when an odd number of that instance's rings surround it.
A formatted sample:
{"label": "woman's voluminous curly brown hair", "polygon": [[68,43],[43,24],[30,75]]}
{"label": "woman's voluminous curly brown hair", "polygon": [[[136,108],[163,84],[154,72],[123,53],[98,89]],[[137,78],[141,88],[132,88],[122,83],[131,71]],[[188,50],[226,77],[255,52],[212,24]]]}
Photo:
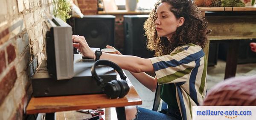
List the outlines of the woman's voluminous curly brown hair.
{"label": "woman's voluminous curly brown hair", "polygon": [[[155,29],[156,9],[160,3],[169,3],[170,11],[176,18],[184,17],[182,26],[178,27],[171,39],[157,36]],[[207,29],[208,23],[201,11],[191,0],[159,0],[155,8],[149,14],[149,18],[144,23],[145,35],[147,36],[147,48],[155,51],[155,56],[170,54],[177,46],[188,43],[204,46],[207,43],[207,34],[211,31]]]}

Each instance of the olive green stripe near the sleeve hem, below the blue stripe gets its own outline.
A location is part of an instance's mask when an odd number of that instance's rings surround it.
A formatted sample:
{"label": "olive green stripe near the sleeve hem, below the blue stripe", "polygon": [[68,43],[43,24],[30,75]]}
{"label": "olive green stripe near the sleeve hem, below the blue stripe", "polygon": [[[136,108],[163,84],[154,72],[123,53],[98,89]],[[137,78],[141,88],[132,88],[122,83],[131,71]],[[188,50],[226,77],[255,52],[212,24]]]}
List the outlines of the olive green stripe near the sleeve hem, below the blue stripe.
{"label": "olive green stripe near the sleeve hem, below the blue stripe", "polygon": [[170,74],[170,75],[166,75],[165,77],[161,77],[158,80],[159,84],[163,84],[163,83],[169,83],[177,78],[183,77],[186,74],[189,74],[192,71],[192,68],[187,68],[183,71],[176,71],[174,74]]}

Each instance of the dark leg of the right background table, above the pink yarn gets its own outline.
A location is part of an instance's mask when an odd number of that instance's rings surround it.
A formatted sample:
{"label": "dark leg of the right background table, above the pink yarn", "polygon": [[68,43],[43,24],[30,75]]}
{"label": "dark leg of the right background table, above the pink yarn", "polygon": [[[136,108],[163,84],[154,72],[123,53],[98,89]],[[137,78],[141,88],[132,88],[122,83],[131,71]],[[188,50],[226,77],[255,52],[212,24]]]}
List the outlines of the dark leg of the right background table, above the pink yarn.
{"label": "dark leg of the right background table, above the pink yarn", "polygon": [[236,76],[236,66],[239,52],[239,40],[230,40],[227,51],[224,80]]}

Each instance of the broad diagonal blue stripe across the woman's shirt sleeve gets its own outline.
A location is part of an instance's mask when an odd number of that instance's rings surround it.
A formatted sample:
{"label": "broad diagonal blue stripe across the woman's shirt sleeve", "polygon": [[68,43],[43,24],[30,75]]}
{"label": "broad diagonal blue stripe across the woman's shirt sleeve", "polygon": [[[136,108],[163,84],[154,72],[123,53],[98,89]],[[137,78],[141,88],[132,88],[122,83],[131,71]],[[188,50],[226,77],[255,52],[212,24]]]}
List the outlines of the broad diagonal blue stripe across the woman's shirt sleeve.
{"label": "broad diagonal blue stripe across the woman's shirt sleeve", "polygon": [[154,71],[158,71],[160,69],[166,69],[166,68],[169,68],[169,67],[176,67],[176,66],[180,66],[180,65],[183,65],[183,64],[188,64],[194,60],[197,60],[201,57],[204,56],[204,51],[203,49],[201,49],[201,51],[198,51],[194,54],[190,54],[188,55],[187,57],[183,58],[182,60],[180,61],[177,61],[177,60],[170,60],[170,61],[160,61],[160,62],[157,62],[157,63],[154,63],[153,64],[153,67],[154,67]]}

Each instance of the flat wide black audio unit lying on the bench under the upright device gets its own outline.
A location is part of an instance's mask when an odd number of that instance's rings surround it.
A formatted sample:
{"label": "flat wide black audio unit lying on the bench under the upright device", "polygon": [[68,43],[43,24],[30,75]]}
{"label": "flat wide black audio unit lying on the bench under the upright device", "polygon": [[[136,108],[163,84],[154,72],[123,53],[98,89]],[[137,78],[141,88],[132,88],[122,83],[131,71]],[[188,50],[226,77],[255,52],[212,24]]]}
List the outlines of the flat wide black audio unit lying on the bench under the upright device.
{"label": "flat wide black audio unit lying on the bench under the upright device", "polygon": [[[34,97],[64,96],[76,94],[102,94],[102,88],[91,76],[93,60],[75,60],[74,73],[71,79],[56,80],[50,77],[44,60],[38,71],[32,77]],[[104,83],[116,80],[116,72],[108,66],[97,66],[97,74]]]}

